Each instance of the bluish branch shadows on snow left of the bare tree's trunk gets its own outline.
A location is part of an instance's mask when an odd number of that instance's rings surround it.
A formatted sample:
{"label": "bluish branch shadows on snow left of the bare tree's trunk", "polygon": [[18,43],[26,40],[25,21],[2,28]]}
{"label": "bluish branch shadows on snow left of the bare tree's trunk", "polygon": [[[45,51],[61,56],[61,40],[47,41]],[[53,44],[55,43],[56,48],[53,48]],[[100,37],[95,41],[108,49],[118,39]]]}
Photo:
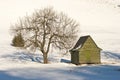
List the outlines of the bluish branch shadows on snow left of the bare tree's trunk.
{"label": "bluish branch shadows on snow left of the bare tree's trunk", "polygon": [[30,61],[30,62],[40,62],[42,61],[42,57],[39,54],[33,53],[25,53],[25,52],[16,52],[9,55],[3,55],[1,58],[6,58],[11,61]]}

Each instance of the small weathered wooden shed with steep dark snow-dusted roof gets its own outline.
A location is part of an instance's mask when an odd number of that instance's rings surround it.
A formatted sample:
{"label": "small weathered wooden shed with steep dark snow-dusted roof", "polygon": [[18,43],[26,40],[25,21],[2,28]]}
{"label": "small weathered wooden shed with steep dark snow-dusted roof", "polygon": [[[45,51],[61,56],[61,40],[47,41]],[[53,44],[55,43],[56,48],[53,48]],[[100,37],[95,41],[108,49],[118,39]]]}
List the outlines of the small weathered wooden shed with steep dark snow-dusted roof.
{"label": "small weathered wooden shed with steep dark snow-dusted roof", "polygon": [[77,41],[73,49],[70,50],[71,62],[73,64],[99,64],[100,61],[99,48],[91,36],[82,36]]}

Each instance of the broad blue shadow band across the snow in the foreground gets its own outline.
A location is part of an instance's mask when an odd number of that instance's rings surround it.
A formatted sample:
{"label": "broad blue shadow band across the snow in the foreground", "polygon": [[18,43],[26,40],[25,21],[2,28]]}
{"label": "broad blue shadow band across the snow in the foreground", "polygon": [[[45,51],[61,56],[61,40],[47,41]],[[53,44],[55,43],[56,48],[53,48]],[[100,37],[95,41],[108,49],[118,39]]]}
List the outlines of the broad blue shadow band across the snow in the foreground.
{"label": "broad blue shadow band across the snow in the foreground", "polygon": [[111,65],[17,68],[0,71],[0,80],[119,80],[119,69]]}

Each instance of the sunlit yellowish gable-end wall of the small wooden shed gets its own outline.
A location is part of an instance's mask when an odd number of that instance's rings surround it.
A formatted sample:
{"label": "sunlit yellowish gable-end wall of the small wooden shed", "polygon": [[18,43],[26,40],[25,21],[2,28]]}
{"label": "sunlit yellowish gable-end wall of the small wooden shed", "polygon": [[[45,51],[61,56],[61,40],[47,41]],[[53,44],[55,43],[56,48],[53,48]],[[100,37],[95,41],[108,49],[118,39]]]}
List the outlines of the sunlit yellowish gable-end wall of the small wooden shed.
{"label": "sunlit yellowish gable-end wall of the small wooden shed", "polygon": [[79,63],[100,63],[100,49],[90,37],[79,49]]}

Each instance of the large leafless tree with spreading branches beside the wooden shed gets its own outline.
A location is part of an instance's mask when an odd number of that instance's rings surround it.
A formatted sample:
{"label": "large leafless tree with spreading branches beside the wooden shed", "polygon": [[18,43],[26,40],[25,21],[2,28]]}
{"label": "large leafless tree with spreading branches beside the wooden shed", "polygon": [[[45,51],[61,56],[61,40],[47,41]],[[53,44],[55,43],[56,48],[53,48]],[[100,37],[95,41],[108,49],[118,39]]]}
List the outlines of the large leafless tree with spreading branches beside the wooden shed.
{"label": "large leafless tree with spreading branches beside the wooden shed", "polygon": [[38,48],[43,53],[44,63],[48,63],[50,48],[70,49],[77,37],[76,21],[63,13],[57,13],[52,8],[36,10],[32,16],[19,19],[11,30],[22,33],[25,48]]}

